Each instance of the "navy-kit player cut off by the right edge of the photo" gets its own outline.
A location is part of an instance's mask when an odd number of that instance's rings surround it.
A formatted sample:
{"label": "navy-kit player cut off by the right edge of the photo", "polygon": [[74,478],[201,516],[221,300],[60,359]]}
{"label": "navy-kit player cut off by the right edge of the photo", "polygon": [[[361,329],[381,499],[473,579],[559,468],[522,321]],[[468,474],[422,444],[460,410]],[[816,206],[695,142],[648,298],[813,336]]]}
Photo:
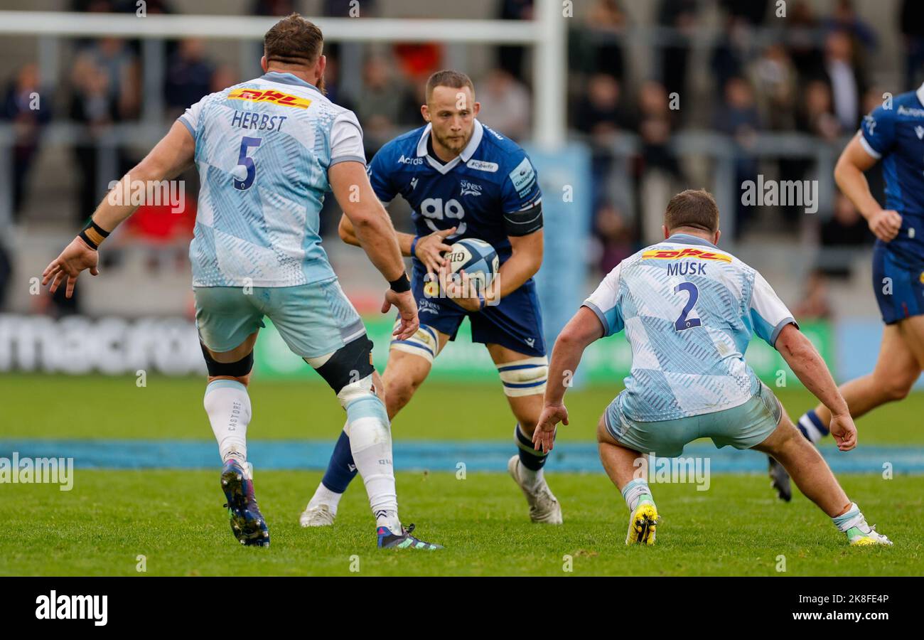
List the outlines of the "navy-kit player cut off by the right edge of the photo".
{"label": "navy-kit player cut off by the right edge of the photo", "polygon": [[[879,161],[885,207],[872,197],[863,175]],[[841,386],[850,414],[858,418],[903,400],[924,370],[924,84],[863,118],[834,167],[834,179],[876,236],[872,288],[885,323],[872,373]],[[819,405],[799,418],[798,427],[817,443],[830,423],[831,412]],[[770,462],[777,495],[788,500],[789,478]]]}

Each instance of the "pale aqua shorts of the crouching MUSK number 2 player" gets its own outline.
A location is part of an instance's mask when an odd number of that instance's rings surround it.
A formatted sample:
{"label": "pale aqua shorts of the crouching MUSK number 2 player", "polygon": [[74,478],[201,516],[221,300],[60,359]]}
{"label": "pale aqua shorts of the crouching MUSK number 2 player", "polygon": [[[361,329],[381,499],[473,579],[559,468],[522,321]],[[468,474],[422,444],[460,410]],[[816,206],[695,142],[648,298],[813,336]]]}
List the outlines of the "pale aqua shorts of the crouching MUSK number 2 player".
{"label": "pale aqua shorts of the crouching MUSK number 2 player", "polygon": [[626,416],[620,396],[622,394],[603,412],[606,430],[628,449],[664,458],[683,454],[684,447],[699,437],[710,437],[720,449],[728,445],[750,449],[770,437],[783,415],[780,400],[762,382],[757,395],[737,407],[655,422],[641,422]]}

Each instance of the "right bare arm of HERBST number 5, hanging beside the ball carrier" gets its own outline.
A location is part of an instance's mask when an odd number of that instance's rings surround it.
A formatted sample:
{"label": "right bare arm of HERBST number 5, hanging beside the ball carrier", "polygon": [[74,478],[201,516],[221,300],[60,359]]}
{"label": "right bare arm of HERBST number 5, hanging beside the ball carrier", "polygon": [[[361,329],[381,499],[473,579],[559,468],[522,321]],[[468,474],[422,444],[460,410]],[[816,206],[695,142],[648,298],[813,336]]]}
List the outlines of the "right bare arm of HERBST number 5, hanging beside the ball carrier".
{"label": "right bare arm of HERBST number 5, hanging beside the ball carrier", "polygon": [[417,302],[414,302],[414,294],[410,291],[395,228],[372,191],[366,167],[359,162],[340,162],[328,170],[327,177],[334,198],[352,226],[359,246],[391,284],[391,289],[385,291],[382,313],[386,313],[394,304],[401,315],[401,324],[395,329],[395,336],[400,339],[410,338],[420,325]]}

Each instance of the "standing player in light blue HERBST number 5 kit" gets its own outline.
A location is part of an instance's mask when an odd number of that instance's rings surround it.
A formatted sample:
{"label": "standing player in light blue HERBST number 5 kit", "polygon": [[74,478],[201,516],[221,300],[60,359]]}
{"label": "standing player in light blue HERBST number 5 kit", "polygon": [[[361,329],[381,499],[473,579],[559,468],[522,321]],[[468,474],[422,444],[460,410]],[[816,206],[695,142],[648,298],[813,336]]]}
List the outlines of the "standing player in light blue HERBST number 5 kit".
{"label": "standing player in light blue HERBST number 5 kit", "polygon": [[[243,545],[269,545],[247,462],[251,410],[247,387],[263,316],[291,351],[334,389],[346,410],[353,460],[363,476],[380,548],[434,549],[398,519],[390,423],[372,343],[321,246],[319,213],[333,191],[359,244],[389,281],[397,338],[419,327],[401,252],[388,215],[366,175],[356,117],[323,93],[321,30],[292,14],[267,31],[260,78],[212,93],[190,106],[147,157],[122,178],[147,184],[175,178],[195,162],[201,178],[189,245],[196,325],[209,382],[204,406],[224,464],[222,488],[231,528]],[[103,200],[78,238],[45,269],[54,292],[79,273],[98,274],[97,248],[134,213],[130,201]]]}

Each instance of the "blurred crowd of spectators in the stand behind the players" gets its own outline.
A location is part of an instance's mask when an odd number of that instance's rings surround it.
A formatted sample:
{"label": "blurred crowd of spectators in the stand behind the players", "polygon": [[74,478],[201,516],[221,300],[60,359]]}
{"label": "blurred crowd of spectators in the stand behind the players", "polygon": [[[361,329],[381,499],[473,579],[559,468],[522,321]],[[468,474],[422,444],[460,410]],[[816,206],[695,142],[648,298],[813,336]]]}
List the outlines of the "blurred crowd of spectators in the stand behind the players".
{"label": "blurred crowd of spectators in the stand behind the players", "polygon": [[[587,0],[590,9],[572,23],[568,39],[568,124],[592,149],[594,260],[602,271],[650,240],[644,203],[659,211],[672,190],[689,186],[683,158],[672,141],[684,130],[711,130],[723,134],[736,149],[736,183],[759,173],[784,179],[814,177],[813,160],[780,157],[768,163],[755,154],[760,133],[798,132],[821,142],[837,142],[855,131],[863,114],[881,103],[882,88],[870,83],[865,62],[880,43],[878,35],[857,16],[851,0],[835,0],[827,15],[813,13],[807,2],[787,3],[785,29],[773,18],[771,0],[718,0],[723,29],[710,44],[708,82],[702,89],[702,70],[693,72],[694,41],[702,22],[704,0],[652,0],[657,6],[652,34],[653,56],[647,77],[638,78],[629,64],[633,25],[621,0]],[[350,15],[350,0],[323,0],[322,14]],[[132,12],[131,0],[73,0],[81,12]],[[302,7],[295,0],[253,0],[254,15],[286,15]],[[496,18],[529,19],[532,0],[497,0]],[[173,13],[169,0],[148,0],[149,14]],[[363,0],[362,15],[374,17],[374,0]],[[776,31],[773,31],[776,30]],[[894,31],[900,33],[904,59],[900,64],[906,90],[922,80],[924,71],[924,3],[902,0]],[[770,37],[758,37],[760,35]],[[72,149],[79,171],[76,226],[82,224],[100,196],[98,154],[100,136],[118,123],[142,117],[142,68],[139,42],[115,36],[68,42],[73,46],[66,79],[54,90],[42,86],[34,64],[18,69],[8,80],[0,118],[15,124],[12,149],[15,180],[14,217],[25,209],[30,171],[48,122],[70,121],[85,127]],[[346,45],[344,45],[346,46]],[[361,82],[354,89],[340,82],[341,46],[326,46],[327,92],[334,102],[356,111],[366,135],[367,154],[403,130],[419,126],[419,105],[424,80],[444,60],[439,43],[395,43],[366,51],[361,58]],[[528,51],[497,46],[493,66],[475,80],[481,103],[480,119],[515,140],[530,134],[532,114],[531,73]],[[203,95],[243,80],[239,70],[214,61],[201,40],[170,41],[164,45],[164,121],[178,116]],[[357,90],[355,87],[359,86]],[[44,91],[43,91],[44,90]],[[688,95],[709,99],[685,100]],[[43,108],[30,106],[36,93],[55,95]],[[677,108],[677,104],[683,108]],[[691,104],[695,103],[695,104]],[[50,108],[51,105],[57,108]],[[66,106],[60,106],[66,105]],[[632,141],[630,153],[618,152]],[[128,148],[116,151],[116,169],[128,170],[140,158]],[[876,172],[878,176],[878,172]],[[133,218],[123,242],[142,242],[156,249],[160,264],[171,264],[191,233],[196,178],[184,177],[186,218],[162,221],[157,211],[141,211]],[[824,178],[824,177],[819,177]],[[875,178],[870,174],[870,178]],[[830,178],[827,178],[830,179]],[[693,185],[699,186],[699,185]],[[881,184],[873,185],[874,192]],[[637,194],[632,196],[631,194]],[[827,206],[825,206],[827,204]],[[844,198],[821,203],[814,233],[822,246],[856,247],[869,243],[862,218]],[[736,212],[736,236],[760,229],[754,207]],[[775,214],[793,227],[805,225],[803,209],[782,207]],[[176,217],[176,216],[175,216]],[[326,231],[334,232],[335,216],[327,216]],[[772,222],[781,222],[772,219]],[[660,224],[660,223],[659,223]],[[168,258],[164,260],[164,251]],[[179,253],[176,253],[179,255]],[[112,259],[117,260],[117,252]],[[177,258],[178,259],[178,258]],[[0,255],[0,280],[4,263]],[[843,265],[820,263],[818,277],[845,275]],[[0,306],[2,306],[0,286]],[[822,305],[823,306],[823,305]]]}

